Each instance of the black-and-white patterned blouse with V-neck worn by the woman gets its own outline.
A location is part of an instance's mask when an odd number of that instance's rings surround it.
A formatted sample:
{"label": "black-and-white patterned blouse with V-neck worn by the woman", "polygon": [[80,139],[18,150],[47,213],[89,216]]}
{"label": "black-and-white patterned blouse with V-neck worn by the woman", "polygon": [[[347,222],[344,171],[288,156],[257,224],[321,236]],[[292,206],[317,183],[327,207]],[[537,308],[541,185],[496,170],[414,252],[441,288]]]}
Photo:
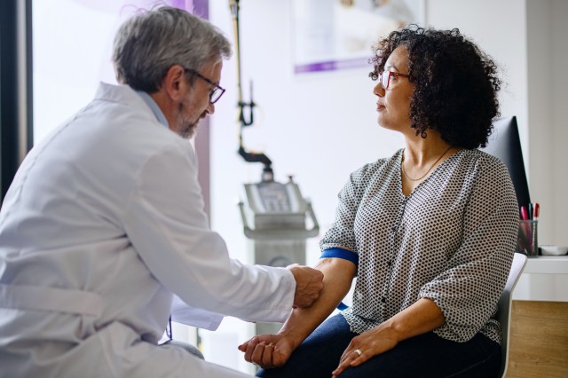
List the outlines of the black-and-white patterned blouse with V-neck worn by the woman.
{"label": "black-and-white patterned blouse with V-neck worn by the woman", "polygon": [[321,250],[359,255],[353,305],[343,316],[355,333],[430,298],[446,323],[434,332],[466,342],[477,332],[501,343],[492,319],[509,275],[518,229],[517,197],[505,165],[478,150],[442,162],[402,193],[403,150],[351,173]]}

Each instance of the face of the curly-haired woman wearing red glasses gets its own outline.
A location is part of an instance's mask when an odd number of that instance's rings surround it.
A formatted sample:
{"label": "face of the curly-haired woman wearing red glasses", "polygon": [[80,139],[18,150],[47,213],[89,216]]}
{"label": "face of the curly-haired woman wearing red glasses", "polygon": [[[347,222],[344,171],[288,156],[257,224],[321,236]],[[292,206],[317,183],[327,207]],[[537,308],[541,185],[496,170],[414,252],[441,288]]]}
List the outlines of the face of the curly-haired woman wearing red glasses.
{"label": "face of the curly-haired woman wearing red glasses", "polygon": [[[392,51],[384,65],[384,71],[408,74],[406,46],[398,46]],[[410,100],[414,95],[414,83],[410,83],[407,77],[390,75],[388,89],[383,89],[381,80],[378,80],[373,93],[378,96],[377,122],[385,129],[412,132],[414,135],[414,130],[410,128]]]}

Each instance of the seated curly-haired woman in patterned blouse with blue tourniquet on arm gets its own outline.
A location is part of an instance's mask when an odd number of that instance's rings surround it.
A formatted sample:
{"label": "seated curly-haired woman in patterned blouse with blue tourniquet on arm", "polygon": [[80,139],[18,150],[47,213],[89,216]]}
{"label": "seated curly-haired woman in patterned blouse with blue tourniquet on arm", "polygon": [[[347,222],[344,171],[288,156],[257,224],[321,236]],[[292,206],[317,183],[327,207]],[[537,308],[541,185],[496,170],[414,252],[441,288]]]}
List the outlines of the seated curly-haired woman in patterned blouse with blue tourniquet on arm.
{"label": "seated curly-haired woman in patterned blouse with blue tourniquet on arm", "polygon": [[[264,377],[495,376],[518,224],[507,169],[476,149],[499,114],[496,67],[459,30],[414,26],[373,63],[378,122],[406,147],[343,187],[318,301],[239,348]],[[351,308],[327,319],[356,276]]]}

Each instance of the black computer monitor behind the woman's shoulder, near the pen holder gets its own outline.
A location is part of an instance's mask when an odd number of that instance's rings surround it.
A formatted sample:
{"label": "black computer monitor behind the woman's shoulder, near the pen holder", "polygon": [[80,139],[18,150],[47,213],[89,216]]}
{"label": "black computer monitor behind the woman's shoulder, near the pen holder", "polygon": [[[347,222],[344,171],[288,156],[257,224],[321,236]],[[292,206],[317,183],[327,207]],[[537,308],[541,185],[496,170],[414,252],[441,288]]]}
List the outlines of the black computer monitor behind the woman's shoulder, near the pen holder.
{"label": "black computer monitor behind the woman's shoulder, near the pen holder", "polygon": [[527,207],[531,202],[531,197],[526,180],[521,140],[518,136],[517,117],[504,117],[495,120],[493,122],[493,134],[489,136],[487,146],[480,149],[487,154],[498,157],[505,163],[507,169],[509,169],[513,185],[515,185],[518,206]]}

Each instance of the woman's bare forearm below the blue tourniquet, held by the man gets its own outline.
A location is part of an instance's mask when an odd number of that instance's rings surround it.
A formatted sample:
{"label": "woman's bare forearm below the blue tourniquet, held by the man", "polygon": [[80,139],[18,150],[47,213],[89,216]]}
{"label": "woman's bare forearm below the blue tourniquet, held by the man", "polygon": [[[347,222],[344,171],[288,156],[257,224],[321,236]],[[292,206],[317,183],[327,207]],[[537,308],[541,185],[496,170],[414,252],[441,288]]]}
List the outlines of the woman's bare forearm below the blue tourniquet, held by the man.
{"label": "woman's bare forearm below the blue tourniquet, held by the man", "polygon": [[318,300],[309,308],[294,309],[279,332],[294,343],[295,349],[323,320],[327,319],[347,295],[357,270],[355,264],[340,258],[322,258],[315,269],[324,274],[324,288]]}

